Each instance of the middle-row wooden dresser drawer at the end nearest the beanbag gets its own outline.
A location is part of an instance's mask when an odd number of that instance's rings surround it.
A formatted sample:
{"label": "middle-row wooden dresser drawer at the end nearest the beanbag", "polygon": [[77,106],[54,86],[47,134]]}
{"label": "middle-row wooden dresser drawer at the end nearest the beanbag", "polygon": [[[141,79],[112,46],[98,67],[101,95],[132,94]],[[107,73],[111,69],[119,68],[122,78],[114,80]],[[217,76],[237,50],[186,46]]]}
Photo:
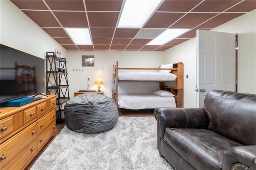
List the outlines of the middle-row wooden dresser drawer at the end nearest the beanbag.
{"label": "middle-row wooden dresser drawer at the end nearest the beanbag", "polygon": [[42,117],[37,121],[37,134],[40,134],[44,129],[46,129],[53,121],[56,121],[56,111],[55,109],[50,111],[47,115]]}

